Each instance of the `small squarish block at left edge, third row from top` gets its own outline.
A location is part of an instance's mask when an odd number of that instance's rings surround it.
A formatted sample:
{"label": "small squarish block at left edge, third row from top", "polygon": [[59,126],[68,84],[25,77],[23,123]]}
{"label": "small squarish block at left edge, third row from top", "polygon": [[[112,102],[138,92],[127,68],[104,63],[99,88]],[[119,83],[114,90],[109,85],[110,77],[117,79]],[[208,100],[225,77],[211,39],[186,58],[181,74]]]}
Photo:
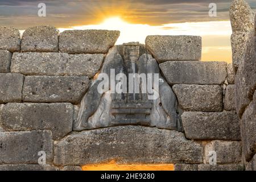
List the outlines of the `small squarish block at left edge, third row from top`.
{"label": "small squarish block at left edge, third row from top", "polygon": [[23,80],[19,73],[0,73],[0,104],[22,101]]}

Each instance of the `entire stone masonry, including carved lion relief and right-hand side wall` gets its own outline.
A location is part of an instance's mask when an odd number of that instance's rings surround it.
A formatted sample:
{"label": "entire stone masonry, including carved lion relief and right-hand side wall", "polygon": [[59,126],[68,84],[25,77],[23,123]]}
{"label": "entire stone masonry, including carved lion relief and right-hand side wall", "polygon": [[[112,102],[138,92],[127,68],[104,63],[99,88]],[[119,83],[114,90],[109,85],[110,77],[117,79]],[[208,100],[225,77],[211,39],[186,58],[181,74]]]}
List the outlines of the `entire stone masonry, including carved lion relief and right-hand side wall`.
{"label": "entire stone masonry, including carved lion relief and right-hand side wall", "polygon": [[[118,31],[39,26],[20,39],[16,28],[1,27],[0,170],[80,170],[110,160],[175,170],[255,169],[254,34],[246,59],[236,49],[245,44],[238,37],[255,29],[249,19],[232,18],[251,18],[247,7],[234,1],[230,9],[234,69],[200,61],[199,36],[148,36],[145,45],[115,46]],[[101,73],[113,70],[127,78],[158,74],[159,86],[151,89],[159,97],[142,93],[142,82],[136,93],[111,86],[98,92]],[[39,151],[46,152],[43,166]]]}

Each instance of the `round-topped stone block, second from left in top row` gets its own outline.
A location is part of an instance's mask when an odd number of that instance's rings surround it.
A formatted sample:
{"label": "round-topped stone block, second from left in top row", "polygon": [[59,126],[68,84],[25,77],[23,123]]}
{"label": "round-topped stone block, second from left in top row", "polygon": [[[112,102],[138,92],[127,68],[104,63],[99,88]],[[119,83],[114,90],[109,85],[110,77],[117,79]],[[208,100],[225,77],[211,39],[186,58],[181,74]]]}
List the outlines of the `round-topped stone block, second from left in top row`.
{"label": "round-topped stone block, second from left in top row", "polygon": [[57,52],[59,51],[59,30],[52,26],[27,28],[22,34],[22,52]]}

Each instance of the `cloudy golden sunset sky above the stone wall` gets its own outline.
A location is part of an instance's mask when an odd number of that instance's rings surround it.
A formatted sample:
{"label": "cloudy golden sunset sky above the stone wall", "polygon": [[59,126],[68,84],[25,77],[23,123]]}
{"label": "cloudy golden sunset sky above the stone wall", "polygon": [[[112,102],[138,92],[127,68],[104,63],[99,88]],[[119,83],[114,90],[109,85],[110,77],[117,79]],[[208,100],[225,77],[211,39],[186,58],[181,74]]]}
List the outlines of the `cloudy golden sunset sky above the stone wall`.
{"label": "cloudy golden sunset sky above the stone wall", "polygon": [[[38,4],[46,3],[46,17]],[[0,26],[24,30],[51,24],[67,29],[120,30],[117,44],[139,41],[147,35],[200,35],[202,60],[231,61],[229,7],[231,0],[0,0]],[[255,0],[247,0],[252,9]],[[217,4],[210,17],[209,3]]]}

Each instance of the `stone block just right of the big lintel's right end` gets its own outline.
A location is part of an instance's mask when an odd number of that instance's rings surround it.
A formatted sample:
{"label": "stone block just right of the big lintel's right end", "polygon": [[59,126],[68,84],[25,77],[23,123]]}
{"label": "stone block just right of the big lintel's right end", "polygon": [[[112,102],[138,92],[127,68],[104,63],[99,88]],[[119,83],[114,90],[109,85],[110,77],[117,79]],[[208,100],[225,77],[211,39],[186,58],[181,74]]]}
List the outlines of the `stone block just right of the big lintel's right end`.
{"label": "stone block just right of the big lintel's right end", "polygon": [[209,151],[216,151],[217,164],[240,163],[242,143],[240,141],[213,140],[205,145],[205,162],[209,164]]}

